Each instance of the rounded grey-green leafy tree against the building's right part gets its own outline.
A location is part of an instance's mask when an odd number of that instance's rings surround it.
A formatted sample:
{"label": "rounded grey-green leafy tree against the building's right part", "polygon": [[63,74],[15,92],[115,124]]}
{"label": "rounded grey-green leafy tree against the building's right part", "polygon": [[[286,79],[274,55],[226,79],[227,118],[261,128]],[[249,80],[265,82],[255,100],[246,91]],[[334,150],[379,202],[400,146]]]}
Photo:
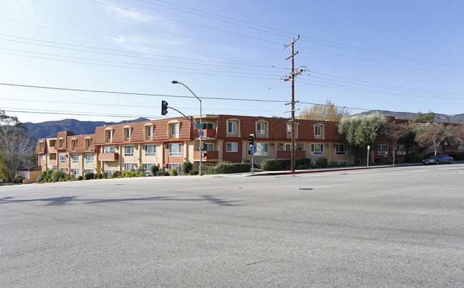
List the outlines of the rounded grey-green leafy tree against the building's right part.
{"label": "rounded grey-green leafy tree against the building's right part", "polygon": [[378,113],[344,117],[338,123],[338,134],[355,149],[356,155],[365,156],[368,145],[375,145],[390,133],[390,125],[384,115]]}

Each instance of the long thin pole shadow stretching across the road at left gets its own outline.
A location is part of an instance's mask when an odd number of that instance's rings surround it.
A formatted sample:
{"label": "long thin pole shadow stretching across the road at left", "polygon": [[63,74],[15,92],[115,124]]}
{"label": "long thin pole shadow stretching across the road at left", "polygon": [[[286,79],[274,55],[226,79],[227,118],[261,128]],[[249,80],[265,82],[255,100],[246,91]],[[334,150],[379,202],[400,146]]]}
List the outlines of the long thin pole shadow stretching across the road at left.
{"label": "long thin pole shadow stretching across the road at left", "polygon": [[194,202],[211,202],[220,206],[243,206],[233,204],[238,200],[227,201],[221,200],[213,195],[203,195],[202,199],[181,199],[176,197],[161,196],[161,197],[140,197],[140,198],[123,198],[123,199],[77,199],[79,196],[66,196],[66,197],[54,197],[54,198],[40,198],[40,199],[15,199],[14,197],[0,198],[1,204],[13,204],[13,203],[27,203],[27,202],[44,202],[45,206],[53,205],[70,205],[74,202],[83,202],[84,204],[99,204],[99,203],[117,203],[117,202],[131,202],[131,201],[194,201]]}

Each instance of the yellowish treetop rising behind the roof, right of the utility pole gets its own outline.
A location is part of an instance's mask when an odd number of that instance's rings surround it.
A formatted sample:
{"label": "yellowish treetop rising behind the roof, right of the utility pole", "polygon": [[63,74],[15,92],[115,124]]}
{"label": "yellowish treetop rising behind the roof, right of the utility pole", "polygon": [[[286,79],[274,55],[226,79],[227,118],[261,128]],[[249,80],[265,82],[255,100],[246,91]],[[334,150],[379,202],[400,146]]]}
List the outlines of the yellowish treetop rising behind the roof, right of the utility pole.
{"label": "yellowish treetop rising behind the roof, right of the utility pole", "polygon": [[346,107],[336,107],[330,100],[326,104],[316,104],[311,108],[303,108],[296,118],[306,120],[328,120],[340,121],[343,117],[348,117],[351,111]]}

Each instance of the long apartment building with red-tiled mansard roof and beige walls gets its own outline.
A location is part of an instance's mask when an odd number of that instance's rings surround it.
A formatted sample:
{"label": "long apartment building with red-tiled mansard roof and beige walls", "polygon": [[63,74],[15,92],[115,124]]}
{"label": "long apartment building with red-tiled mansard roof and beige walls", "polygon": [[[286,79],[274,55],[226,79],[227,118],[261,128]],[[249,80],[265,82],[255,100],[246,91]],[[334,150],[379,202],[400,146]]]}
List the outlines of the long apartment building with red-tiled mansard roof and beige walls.
{"label": "long apartment building with red-tiled mansard roof and beige walls", "polygon": [[[388,118],[390,123],[407,120]],[[202,115],[203,129],[198,129],[200,117],[168,118],[135,123],[99,126],[94,134],[74,135],[62,131],[56,138],[39,139],[36,154],[42,170],[60,169],[68,174],[149,170],[157,165],[171,170],[186,160],[198,169],[222,160],[233,163],[251,160],[248,143],[253,134],[255,163],[266,158],[291,158],[291,121],[288,118],[266,118],[243,115]],[[338,165],[355,163],[353,151],[346,147],[337,133],[338,123],[318,120],[296,120],[296,158],[326,158]],[[200,151],[200,131],[203,150]],[[382,160],[393,154],[393,140],[380,139],[370,151],[370,159]],[[440,152],[457,152],[463,145],[443,145]],[[397,163],[413,150],[396,143]]]}

